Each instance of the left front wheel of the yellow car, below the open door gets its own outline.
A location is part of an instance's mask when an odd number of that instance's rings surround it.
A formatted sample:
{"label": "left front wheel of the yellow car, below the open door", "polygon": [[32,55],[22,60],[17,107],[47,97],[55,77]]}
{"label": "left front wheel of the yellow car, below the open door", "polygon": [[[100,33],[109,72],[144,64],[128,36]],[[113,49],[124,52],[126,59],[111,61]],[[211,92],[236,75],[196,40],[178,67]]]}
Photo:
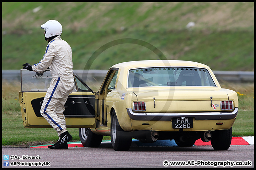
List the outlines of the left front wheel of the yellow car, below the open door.
{"label": "left front wheel of the yellow car, below the open door", "polygon": [[103,135],[97,135],[91,129],[79,128],[79,138],[84,147],[100,146]]}

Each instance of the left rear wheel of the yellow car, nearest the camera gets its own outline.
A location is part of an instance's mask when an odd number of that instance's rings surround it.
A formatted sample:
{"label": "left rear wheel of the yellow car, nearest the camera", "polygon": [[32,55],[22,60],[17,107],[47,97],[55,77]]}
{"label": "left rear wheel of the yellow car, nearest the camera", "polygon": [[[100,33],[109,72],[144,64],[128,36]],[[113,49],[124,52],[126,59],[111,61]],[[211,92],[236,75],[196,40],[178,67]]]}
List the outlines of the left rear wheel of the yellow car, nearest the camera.
{"label": "left rear wheel of the yellow car, nearest the camera", "polygon": [[115,151],[128,151],[132,144],[132,137],[125,132],[117,120],[116,113],[111,115],[111,143]]}

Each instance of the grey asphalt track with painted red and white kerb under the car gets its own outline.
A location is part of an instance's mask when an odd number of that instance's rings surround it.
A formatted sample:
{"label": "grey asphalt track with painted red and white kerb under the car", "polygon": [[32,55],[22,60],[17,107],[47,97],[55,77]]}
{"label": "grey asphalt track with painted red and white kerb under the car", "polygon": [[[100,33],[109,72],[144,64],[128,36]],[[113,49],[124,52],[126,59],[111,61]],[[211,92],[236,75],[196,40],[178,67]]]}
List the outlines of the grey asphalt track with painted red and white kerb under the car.
{"label": "grey asphalt track with painted red and white kerb under the car", "polygon": [[[177,147],[167,140],[151,144],[133,140],[129,151],[114,151],[110,141],[98,148],[82,147],[80,142],[69,142],[68,149],[2,147],[2,168],[254,168],[254,137],[244,138],[233,137],[227,151],[214,151],[210,142]],[[36,166],[39,163],[44,166]]]}

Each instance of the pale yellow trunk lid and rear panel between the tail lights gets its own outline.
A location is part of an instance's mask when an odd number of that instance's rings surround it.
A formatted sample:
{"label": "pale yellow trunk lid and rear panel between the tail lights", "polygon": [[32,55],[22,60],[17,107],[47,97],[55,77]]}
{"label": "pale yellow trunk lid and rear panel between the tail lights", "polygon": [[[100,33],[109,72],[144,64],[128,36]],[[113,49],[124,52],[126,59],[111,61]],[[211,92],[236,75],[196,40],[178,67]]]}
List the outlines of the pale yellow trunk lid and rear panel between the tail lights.
{"label": "pale yellow trunk lid and rear panel between the tail lights", "polygon": [[140,90],[133,91],[138,101],[146,103],[145,112],[220,111],[220,101],[228,95],[218,90]]}

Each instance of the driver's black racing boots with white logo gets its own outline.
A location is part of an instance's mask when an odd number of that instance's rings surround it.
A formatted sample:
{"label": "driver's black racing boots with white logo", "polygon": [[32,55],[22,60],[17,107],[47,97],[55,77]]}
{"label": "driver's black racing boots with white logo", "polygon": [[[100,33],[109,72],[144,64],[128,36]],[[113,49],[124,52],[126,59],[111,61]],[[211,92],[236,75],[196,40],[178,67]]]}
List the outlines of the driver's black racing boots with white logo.
{"label": "driver's black racing boots with white logo", "polygon": [[60,134],[60,139],[57,143],[52,146],[48,146],[50,149],[68,149],[68,142],[72,140],[72,136],[68,131],[65,131],[63,134]]}

